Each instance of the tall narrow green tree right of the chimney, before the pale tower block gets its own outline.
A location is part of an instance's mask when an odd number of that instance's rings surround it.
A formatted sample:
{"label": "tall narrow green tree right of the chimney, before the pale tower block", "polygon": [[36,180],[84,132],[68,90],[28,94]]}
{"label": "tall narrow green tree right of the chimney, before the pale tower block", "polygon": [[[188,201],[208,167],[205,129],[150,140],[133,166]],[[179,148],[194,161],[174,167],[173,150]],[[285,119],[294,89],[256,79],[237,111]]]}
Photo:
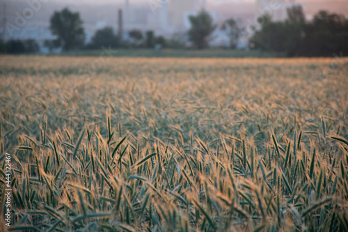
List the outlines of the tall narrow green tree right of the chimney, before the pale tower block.
{"label": "tall narrow green tree right of the chimney, before the pale tower block", "polygon": [[198,49],[207,48],[208,38],[216,29],[212,17],[203,10],[197,16],[190,16],[189,20],[191,22],[189,40],[193,45],[196,45]]}

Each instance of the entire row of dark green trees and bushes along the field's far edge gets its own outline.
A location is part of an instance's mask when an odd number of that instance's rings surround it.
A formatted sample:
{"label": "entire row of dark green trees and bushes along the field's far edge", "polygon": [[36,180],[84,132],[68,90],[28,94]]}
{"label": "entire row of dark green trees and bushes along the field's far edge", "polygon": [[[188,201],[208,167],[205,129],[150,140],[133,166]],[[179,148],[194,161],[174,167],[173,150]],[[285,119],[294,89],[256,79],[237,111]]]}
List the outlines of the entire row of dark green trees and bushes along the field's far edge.
{"label": "entire row of dark green trees and bushes along the field's far edge", "polygon": [[[54,12],[50,19],[50,30],[56,36],[54,40],[45,40],[44,46],[50,51],[61,47],[64,51],[71,49],[100,49],[101,47],[187,47],[189,40],[191,47],[205,49],[209,47],[209,40],[216,29],[226,33],[230,48],[235,49],[241,38],[247,33],[240,20],[230,18],[222,25],[215,25],[209,13],[202,11],[198,15],[190,16],[191,29],[183,36],[173,36],[166,39],[155,36],[154,31],[134,29],[123,35],[114,33],[111,27],[96,31],[90,43],[85,42],[83,22],[79,13],[72,13],[68,8]],[[250,49],[260,49],[285,56],[332,56],[332,54],[348,53],[348,20],[335,13],[319,11],[309,22],[303,14],[301,6],[287,9],[287,20],[273,22],[271,15],[258,18],[258,26],[253,26],[253,35],[248,39]],[[38,52],[39,45],[35,40],[0,40],[0,52],[25,53]]]}

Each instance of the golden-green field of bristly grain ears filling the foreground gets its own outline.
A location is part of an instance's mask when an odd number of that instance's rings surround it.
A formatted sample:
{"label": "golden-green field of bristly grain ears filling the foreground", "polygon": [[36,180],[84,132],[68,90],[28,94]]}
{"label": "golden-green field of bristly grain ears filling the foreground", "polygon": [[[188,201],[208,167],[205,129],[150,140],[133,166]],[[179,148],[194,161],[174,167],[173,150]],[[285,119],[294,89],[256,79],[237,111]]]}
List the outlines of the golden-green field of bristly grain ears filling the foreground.
{"label": "golden-green field of bristly grain ears filling the foreground", "polygon": [[1,56],[0,125],[0,231],[348,231],[348,59]]}

